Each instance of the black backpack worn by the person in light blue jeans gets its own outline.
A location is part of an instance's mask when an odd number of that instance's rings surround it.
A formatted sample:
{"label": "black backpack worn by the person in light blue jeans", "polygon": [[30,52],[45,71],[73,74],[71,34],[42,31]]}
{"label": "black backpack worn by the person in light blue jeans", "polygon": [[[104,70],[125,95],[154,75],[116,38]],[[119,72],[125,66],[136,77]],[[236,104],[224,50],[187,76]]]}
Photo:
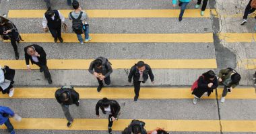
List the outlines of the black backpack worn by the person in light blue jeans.
{"label": "black backpack worn by the person in light blue jeans", "polygon": [[72,12],[70,12],[69,15],[72,18],[72,29],[75,34],[83,34],[83,22],[81,20],[83,12],[81,11],[76,19],[73,17]]}

